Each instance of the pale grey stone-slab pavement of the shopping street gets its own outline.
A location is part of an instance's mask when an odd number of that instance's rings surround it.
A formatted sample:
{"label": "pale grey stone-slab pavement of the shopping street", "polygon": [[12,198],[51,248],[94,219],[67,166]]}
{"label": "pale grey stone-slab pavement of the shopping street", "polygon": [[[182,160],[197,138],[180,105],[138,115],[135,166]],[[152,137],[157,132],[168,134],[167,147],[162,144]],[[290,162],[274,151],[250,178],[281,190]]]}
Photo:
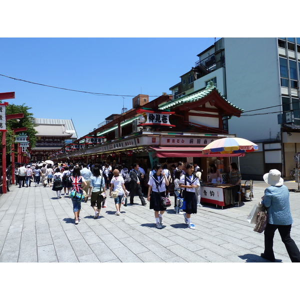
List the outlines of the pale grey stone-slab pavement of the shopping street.
{"label": "pale grey stone-slab pavement of the shopping street", "polygon": [[[284,184],[297,188],[295,182]],[[172,207],[157,229],[153,210],[137,196],[137,204],[122,205],[118,216],[108,197],[99,219],[93,218],[90,201],[82,202],[75,225],[69,197],[57,199],[49,187],[13,185],[0,197],[0,262],[267,262],[260,257],[263,233],[246,220],[267,186],[254,181],[253,200],[239,207],[202,203],[191,216],[192,230]],[[299,247],[300,193],[290,192],[290,206],[291,236]],[[277,231],[273,248],[277,262],[290,262]]]}

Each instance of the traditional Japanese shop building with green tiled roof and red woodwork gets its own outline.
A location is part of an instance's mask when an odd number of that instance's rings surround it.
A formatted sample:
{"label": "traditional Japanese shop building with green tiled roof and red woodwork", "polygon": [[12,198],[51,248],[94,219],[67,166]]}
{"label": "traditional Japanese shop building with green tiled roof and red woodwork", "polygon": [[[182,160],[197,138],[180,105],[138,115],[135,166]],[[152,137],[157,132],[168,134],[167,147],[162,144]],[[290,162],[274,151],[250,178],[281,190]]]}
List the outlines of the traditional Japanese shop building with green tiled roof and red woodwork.
{"label": "traditional Japanese shop building with green tiled roof and red woodwork", "polygon": [[198,160],[204,176],[206,165],[213,161],[225,172],[225,154],[204,155],[201,149],[214,139],[234,136],[228,133],[227,119],[239,117],[242,110],[226,100],[210,82],[206,88],[186,96],[172,99],[171,95],[161,95],[135,107],[75,140],[76,150],[67,149],[55,158],[137,161],[146,168],[157,161],[170,164]]}

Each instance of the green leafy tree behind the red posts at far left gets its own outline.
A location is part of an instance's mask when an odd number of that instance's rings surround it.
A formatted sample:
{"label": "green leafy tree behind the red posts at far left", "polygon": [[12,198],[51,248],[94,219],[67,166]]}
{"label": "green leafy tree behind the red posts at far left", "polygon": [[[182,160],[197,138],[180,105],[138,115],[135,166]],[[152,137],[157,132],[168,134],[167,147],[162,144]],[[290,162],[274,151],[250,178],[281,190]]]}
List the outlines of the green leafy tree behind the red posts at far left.
{"label": "green leafy tree behind the red posts at far left", "polygon": [[[26,135],[28,135],[28,141],[31,148],[35,146],[36,142],[36,136],[35,134],[37,131],[35,130],[36,124],[34,123],[34,117],[33,113],[29,112],[29,109],[31,107],[28,107],[23,103],[22,105],[16,105],[16,104],[8,104],[6,106],[6,115],[7,114],[14,114],[14,113],[23,113],[24,117],[20,118],[19,121],[16,119],[11,119],[6,121],[6,153],[10,152],[10,147],[12,142],[14,142],[14,139],[12,140],[13,136],[13,128],[21,128],[21,127],[27,127],[27,130],[24,131]],[[16,132],[16,135],[21,133]]]}

